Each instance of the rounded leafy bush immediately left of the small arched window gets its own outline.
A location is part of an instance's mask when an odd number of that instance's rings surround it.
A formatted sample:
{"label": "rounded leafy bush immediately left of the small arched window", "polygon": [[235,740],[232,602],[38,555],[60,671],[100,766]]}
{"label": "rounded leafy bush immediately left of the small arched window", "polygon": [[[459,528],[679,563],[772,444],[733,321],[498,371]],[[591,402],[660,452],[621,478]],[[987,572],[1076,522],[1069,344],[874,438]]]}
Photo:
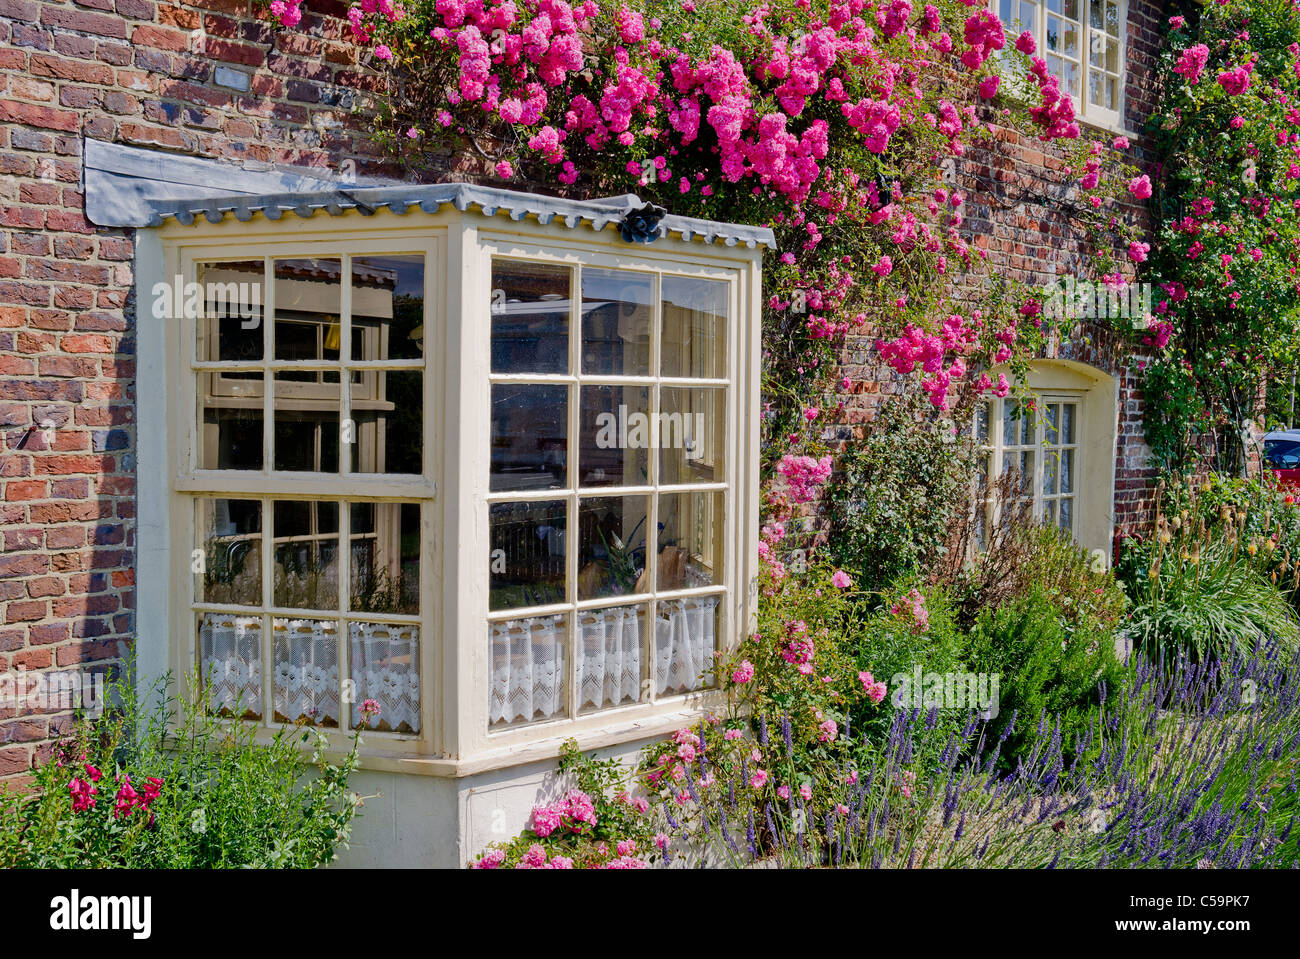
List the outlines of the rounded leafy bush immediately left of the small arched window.
{"label": "rounded leafy bush immediately left of the small arched window", "polygon": [[829,489],[829,550],[867,590],[927,570],[970,498],[970,450],[952,421],[935,420],[916,398],[896,398],[866,439],[845,450]]}

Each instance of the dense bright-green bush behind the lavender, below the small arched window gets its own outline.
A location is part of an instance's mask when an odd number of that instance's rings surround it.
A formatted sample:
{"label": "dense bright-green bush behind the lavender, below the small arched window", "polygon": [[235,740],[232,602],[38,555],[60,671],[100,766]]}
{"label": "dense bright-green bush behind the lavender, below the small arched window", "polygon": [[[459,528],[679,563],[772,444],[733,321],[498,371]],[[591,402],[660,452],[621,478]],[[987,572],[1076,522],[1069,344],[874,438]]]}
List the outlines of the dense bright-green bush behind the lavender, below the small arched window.
{"label": "dense bright-green bush behind the lavender, below the small arched window", "polygon": [[[1113,695],[1124,682],[1112,633],[1086,619],[1071,621],[1071,612],[1041,585],[980,613],[968,642],[968,668],[998,674],[993,729],[1006,737],[1004,761],[1052,735],[1057,722],[1062,747],[1071,754],[1088,728],[1101,684]],[[1040,728],[1044,711],[1048,719]]]}

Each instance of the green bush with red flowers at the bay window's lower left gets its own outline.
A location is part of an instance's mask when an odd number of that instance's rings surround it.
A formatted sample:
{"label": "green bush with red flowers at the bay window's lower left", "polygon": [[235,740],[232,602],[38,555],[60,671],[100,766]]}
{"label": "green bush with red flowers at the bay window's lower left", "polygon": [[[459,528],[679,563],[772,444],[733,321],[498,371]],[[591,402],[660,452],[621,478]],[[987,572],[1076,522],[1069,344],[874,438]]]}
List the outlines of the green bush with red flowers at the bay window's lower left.
{"label": "green bush with red flowers at the bay window's lower left", "polygon": [[256,743],[205,708],[169,726],[168,702],[146,712],[129,684],[112,693],[116,708],[78,719],[32,791],[0,791],[0,868],[308,868],[346,846],[359,733],[335,764],[320,730]]}

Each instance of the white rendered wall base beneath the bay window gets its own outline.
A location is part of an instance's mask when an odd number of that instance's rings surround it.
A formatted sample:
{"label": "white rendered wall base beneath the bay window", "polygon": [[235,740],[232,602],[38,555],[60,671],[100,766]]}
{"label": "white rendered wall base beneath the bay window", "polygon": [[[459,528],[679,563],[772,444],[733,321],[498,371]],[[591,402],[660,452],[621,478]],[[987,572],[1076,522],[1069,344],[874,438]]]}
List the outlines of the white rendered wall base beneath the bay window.
{"label": "white rendered wall base beneath the bay window", "polygon": [[[597,756],[632,767],[649,742],[598,750]],[[563,795],[572,784],[550,760],[459,780],[363,771],[351,787],[365,804],[337,868],[455,869],[488,843],[520,833],[534,806]]]}

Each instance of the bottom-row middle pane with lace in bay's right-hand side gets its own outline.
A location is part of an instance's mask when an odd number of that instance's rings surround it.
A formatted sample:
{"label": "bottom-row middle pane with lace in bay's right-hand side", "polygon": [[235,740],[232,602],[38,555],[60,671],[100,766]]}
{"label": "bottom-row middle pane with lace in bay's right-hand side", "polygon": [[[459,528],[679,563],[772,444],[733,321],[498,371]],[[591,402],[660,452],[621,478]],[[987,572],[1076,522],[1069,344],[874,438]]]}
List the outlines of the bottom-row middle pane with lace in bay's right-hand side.
{"label": "bottom-row middle pane with lace in bay's right-hand side", "polygon": [[578,712],[636,703],[645,690],[646,608],[615,606],[577,613]]}

